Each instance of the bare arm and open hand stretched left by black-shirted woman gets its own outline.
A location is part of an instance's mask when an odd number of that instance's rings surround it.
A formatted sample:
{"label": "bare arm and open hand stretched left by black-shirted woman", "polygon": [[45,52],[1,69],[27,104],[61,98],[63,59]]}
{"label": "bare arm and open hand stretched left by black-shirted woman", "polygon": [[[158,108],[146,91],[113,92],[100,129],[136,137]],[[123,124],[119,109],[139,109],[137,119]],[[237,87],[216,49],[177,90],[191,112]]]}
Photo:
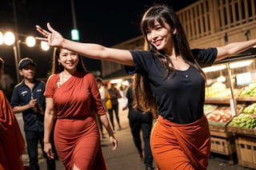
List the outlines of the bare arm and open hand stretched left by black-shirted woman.
{"label": "bare arm and open hand stretched left by black-shirted woman", "polygon": [[69,49],[74,52],[81,54],[82,56],[105,60],[114,61],[122,65],[134,66],[134,60],[131,53],[125,49],[113,49],[107,48],[102,45],[89,44],[74,42],[63,38],[56,30],[54,30],[50,23],[47,23],[47,30],[43,30],[42,27],[36,26],[39,33],[41,33],[44,38],[36,38],[41,41],[48,42],[50,46],[58,46],[63,49]]}

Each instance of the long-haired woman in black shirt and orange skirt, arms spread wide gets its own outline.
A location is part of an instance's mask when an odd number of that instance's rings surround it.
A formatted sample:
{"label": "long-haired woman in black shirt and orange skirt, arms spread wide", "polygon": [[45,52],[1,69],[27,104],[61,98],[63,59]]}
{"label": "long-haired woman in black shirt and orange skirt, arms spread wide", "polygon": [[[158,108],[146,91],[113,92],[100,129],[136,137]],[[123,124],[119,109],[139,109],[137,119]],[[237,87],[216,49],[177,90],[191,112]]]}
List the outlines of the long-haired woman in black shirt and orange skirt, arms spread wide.
{"label": "long-haired woman in black shirt and orange skirt, arms spread wide", "polygon": [[161,170],[207,168],[210,129],[203,113],[206,75],[202,67],[249,49],[256,39],[206,49],[190,49],[175,11],[155,4],[141,21],[144,50],[108,48],[74,42],[62,37],[47,23],[36,26],[50,46],[73,50],[82,56],[125,65],[126,73],[138,73],[134,81],[134,108],[158,117],[150,147]]}

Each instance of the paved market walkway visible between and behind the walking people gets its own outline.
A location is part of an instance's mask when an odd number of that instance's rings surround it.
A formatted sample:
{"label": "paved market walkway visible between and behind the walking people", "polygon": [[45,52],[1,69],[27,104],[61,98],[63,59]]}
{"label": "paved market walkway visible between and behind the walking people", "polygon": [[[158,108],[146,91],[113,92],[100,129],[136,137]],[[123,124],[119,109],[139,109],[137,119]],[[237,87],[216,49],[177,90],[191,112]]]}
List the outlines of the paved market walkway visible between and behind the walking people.
{"label": "paved market walkway visible between and behind the walking people", "polygon": [[[122,111],[122,107],[126,104],[125,100],[120,99],[119,117],[122,125],[121,131],[116,131],[115,136],[118,139],[118,149],[111,150],[109,140],[102,141],[102,151],[106,160],[108,169],[110,170],[143,170],[145,166],[142,160],[138,160],[138,153],[134,146],[130,127],[128,124],[127,111]],[[116,123],[116,122],[115,122]],[[106,130],[104,129],[106,134]],[[22,156],[23,163],[28,165],[27,155]],[[46,161],[42,158],[42,152],[39,157],[40,168],[46,169]],[[154,167],[156,165],[154,164]],[[57,170],[64,169],[62,162],[57,161]],[[224,160],[218,156],[211,156],[209,160],[209,168],[207,170],[249,170],[238,164],[231,165],[228,160]]]}

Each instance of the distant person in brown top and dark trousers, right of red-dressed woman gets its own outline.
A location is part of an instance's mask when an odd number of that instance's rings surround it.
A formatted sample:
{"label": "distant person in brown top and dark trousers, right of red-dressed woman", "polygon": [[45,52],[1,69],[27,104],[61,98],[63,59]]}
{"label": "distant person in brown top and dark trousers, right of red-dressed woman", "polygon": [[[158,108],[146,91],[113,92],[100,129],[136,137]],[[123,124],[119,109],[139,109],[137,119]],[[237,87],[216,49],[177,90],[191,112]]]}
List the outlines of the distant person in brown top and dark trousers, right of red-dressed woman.
{"label": "distant person in brown top and dark trousers, right of red-dressed woman", "polygon": [[119,102],[118,102],[118,98],[122,98],[119,90],[115,87],[116,84],[111,83],[110,84],[110,89],[108,90],[108,92],[110,93],[110,100],[111,100],[111,109],[108,109],[108,112],[110,114],[110,122],[112,125],[112,128],[115,130],[114,128],[114,115],[115,118],[118,122],[118,130],[122,130],[122,126],[120,125],[120,119],[119,119]]}

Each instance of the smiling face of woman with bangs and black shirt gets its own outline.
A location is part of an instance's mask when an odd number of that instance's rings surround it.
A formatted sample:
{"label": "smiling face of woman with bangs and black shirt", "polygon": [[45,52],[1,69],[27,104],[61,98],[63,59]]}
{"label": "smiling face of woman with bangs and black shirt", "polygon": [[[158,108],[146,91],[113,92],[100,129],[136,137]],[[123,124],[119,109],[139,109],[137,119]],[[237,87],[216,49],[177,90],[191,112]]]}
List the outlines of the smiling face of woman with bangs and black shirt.
{"label": "smiling face of woman with bangs and black shirt", "polygon": [[163,21],[163,24],[164,26],[155,20],[154,26],[146,30],[146,38],[156,49],[168,53],[173,47],[173,35],[176,31],[173,31],[166,22]]}

